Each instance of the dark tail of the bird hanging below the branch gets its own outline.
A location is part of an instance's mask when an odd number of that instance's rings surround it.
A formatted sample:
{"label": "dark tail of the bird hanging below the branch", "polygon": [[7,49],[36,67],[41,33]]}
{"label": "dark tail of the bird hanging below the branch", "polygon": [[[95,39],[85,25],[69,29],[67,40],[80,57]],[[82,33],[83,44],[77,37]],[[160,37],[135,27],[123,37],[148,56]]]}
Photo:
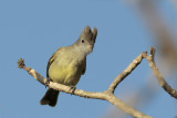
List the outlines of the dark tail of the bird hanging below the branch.
{"label": "dark tail of the bird hanging below the branch", "polygon": [[52,88],[49,88],[43,98],[40,100],[41,105],[49,105],[51,107],[54,107],[58,103],[58,96],[59,90],[54,90]]}

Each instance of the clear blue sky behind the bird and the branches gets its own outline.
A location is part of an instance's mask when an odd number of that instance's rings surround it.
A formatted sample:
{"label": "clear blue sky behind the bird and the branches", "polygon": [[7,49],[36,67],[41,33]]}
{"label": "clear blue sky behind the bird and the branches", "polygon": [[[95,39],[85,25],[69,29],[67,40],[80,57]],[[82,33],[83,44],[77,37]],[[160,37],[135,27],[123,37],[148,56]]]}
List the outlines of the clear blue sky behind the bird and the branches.
{"label": "clear blue sky behind the bird and the branches", "polygon": [[[162,0],[159,4],[167,20],[177,18],[169,1]],[[102,118],[106,114],[112,107],[107,101],[63,93],[56,107],[41,106],[46,88],[17,65],[22,57],[27,66],[45,76],[52,53],[75,42],[87,24],[96,26],[98,33],[79,89],[107,89],[139,53],[154,45],[139,14],[123,0],[0,1],[0,118]],[[122,95],[142,88],[149,73],[148,63],[143,61],[117,87],[117,97],[124,100]],[[156,118],[174,118],[176,99],[162,88],[159,92],[140,111]]]}

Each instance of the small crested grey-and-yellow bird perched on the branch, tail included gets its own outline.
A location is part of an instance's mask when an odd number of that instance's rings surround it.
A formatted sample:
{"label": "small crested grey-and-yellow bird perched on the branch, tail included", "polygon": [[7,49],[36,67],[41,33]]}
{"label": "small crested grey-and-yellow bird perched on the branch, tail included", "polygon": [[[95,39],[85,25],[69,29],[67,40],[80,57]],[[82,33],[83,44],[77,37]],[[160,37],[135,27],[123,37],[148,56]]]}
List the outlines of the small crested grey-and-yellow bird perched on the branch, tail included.
{"label": "small crested grey-and-yellow bird perched on the branch, tail included", "polygon": [[[59,47],[50,57],[46,66],[46,78],[54,83],[75,87],[86,71],[86,56],[92,53],[97,29],[86,25],[80,37],[69,46]],[[54,107],[60,92],[48,88],[40,100],[41,105]]]}

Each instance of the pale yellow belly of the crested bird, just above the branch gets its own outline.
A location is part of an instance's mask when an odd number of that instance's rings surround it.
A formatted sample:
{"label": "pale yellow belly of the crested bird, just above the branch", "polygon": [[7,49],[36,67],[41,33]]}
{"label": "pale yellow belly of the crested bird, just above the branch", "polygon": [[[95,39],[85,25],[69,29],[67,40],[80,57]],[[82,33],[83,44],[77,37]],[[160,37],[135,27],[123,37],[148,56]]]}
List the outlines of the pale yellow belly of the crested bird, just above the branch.
{"label": "pale yellow belly of the crested bird, just above the branch", "polygon": [[82,66],[75,66],[74,61],[54,61],[49,67],[49,77],[60,84],[76,85],[82,74]]}

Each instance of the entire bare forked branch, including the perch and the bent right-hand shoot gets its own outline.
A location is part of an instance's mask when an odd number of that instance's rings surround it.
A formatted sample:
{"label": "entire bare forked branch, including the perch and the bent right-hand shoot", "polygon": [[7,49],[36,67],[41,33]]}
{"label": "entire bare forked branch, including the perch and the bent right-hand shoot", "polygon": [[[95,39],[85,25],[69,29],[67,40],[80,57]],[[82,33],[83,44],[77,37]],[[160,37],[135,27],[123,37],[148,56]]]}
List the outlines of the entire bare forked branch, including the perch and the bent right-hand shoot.
{"label": "entire bare forked branch, including the perch and the bent right-hand shoot", "polygon": [[[102,100],[107,100],[111,104],[113,104],[115,107],[119,108],[124,112],[133,116],[133,117],[138,117],[138,118],[152,118],[147,115],[142,114],[140,111],[129,107],[125,103],[123,103],[121,99],[114,96],[114,90],[116,86],[127,76],[129,75],[136,67],[137,65],[142,62],[143,58],[146,58],[149,63],[149,66],[155,74],[159,85],[173,97],[177,98],[177,92],[173,89],[167,82],[164,79],[163,75],[157,68],[157,65],[155,64],[154,61],[154,55],[155,55],[155,49],[150,47],[149,51],[149,56],[147,56],[147,52],[140,53],[129,65],[126,69],[124,69],[111,84],[107,90],[103,93],[92,93],[92,92],[85,92],[82,89],[75,89],[74,95],[80,96],[80,97],[85,97],[85,98],[93,98],[93,99],[102,99]],[[37,81],[39,81],[41,84],[53,88],[55,90],[64,92],[67,94],[73,94],[72,89],[70,86],[65,86],[62,84],[53,83],[50,82],[48,83],[48,79],[41,76],[39,73],[37,73],[34,69],[31,67],[27,67],[24,64],[24,61],[22,58],[19,60],[18,62],[18,67],[25,69],[31,76],[33,76]]]}

